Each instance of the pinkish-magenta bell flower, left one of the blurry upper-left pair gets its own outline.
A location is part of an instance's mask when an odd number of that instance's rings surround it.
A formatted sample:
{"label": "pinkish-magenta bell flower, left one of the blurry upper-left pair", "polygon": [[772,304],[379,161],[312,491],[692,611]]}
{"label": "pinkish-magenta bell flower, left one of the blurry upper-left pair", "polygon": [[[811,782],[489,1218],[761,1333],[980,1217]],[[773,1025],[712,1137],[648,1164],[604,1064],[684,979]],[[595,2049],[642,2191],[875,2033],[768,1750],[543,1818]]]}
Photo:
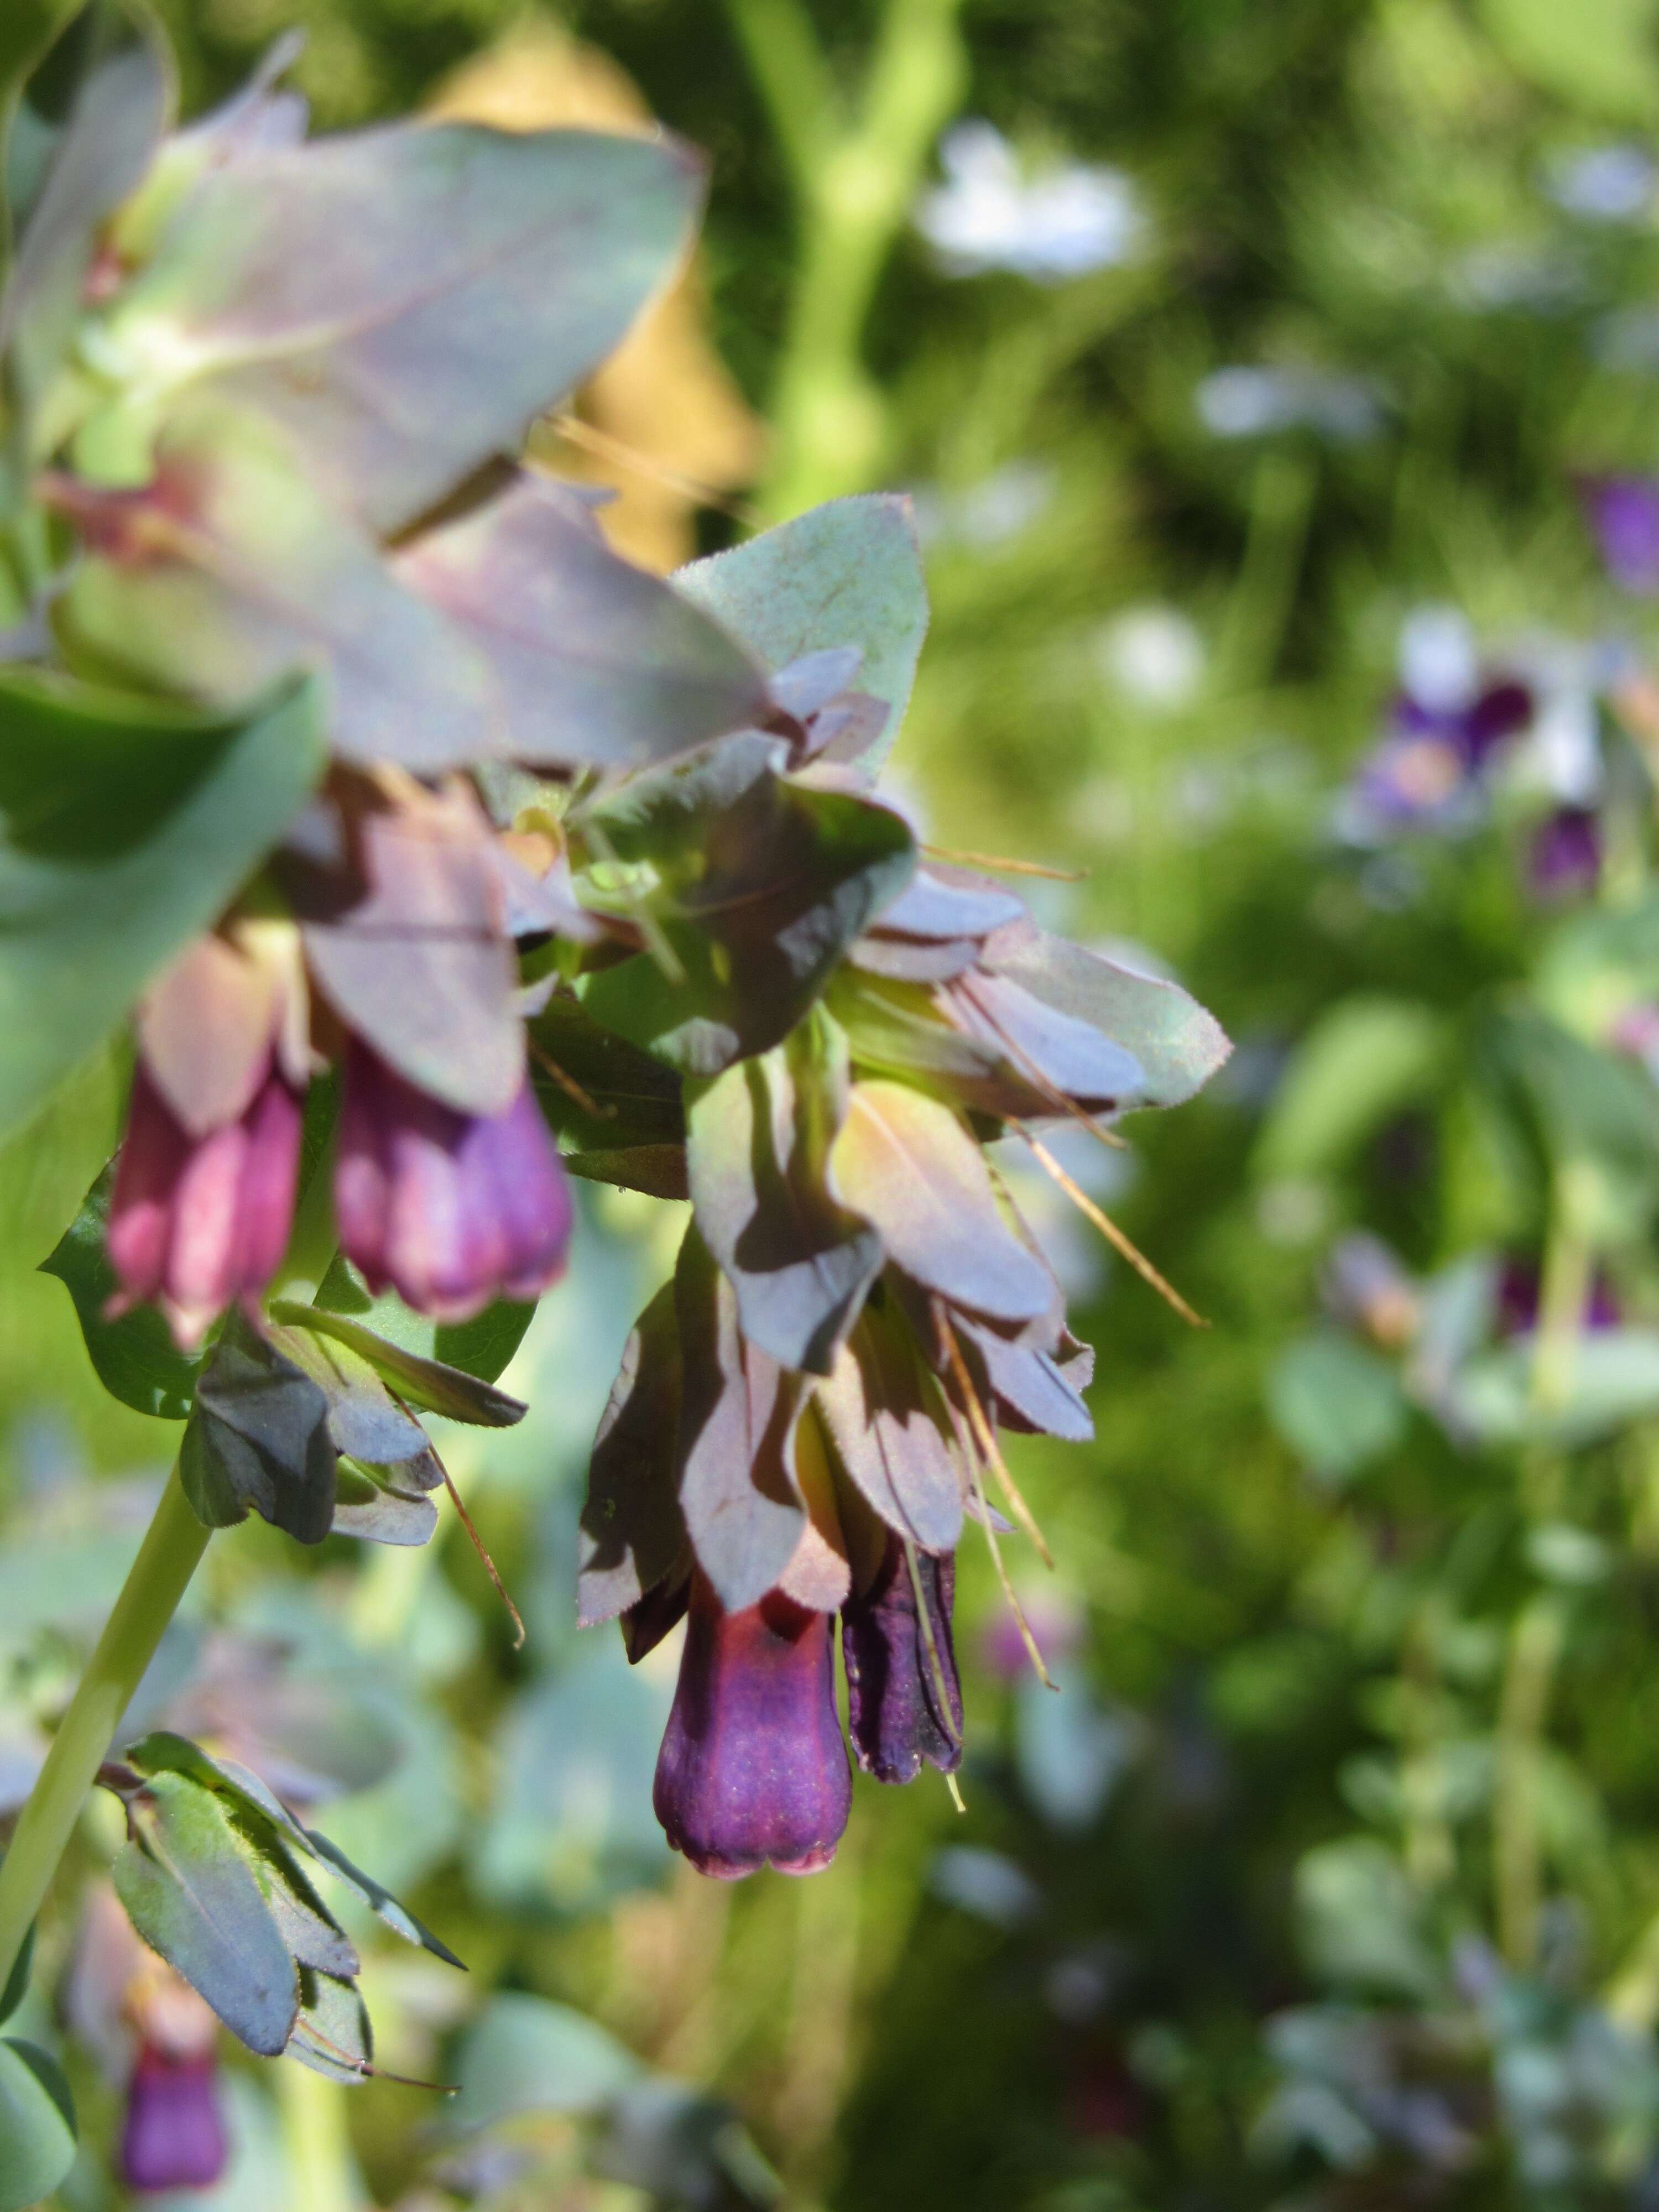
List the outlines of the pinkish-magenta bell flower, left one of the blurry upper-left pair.
{"label": "pinkish-magenta bell flower, left one of the blurry upper-left pair", "polygon": [[234,1121],[192,1137],[139,1060],[108,1214],[111,1314],[155,1298],[190,1349],[232,1298],[259,1298],[294,1221],[299,1137],[299,1095],[274,1066]]}

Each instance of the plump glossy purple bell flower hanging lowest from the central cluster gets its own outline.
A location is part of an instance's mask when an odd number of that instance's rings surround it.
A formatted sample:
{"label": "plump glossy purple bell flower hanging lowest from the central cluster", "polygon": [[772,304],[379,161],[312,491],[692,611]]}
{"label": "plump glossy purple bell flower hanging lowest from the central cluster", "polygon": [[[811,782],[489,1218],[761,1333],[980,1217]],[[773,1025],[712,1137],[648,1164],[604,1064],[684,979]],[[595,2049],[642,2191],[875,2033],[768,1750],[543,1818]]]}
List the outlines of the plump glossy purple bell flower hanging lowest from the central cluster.
{"label": "plump glossy purple bell flower hanging lowest from the central cluster", "polygon": [[730,1882],[768,1865],[830,1865],[852,1809],[832,1615],[781,1590],[726,1613],[695,1575],[650,1803],[699,1874]]}

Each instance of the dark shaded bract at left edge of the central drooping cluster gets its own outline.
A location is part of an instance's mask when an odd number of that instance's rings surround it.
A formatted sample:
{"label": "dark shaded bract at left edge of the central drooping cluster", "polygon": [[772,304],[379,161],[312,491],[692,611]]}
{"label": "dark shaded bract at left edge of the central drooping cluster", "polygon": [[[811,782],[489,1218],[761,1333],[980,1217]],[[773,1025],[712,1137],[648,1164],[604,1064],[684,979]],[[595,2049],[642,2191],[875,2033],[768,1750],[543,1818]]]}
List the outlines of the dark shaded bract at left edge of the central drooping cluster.
{"label": "dark shaded bract at left edge of the central drooping cluster", "polygon": [[664,1283],[635,1321],[599,1420],[582,1506],[577,1626],[615,1619],[686,1546],[679,1511],[679,1325]]}

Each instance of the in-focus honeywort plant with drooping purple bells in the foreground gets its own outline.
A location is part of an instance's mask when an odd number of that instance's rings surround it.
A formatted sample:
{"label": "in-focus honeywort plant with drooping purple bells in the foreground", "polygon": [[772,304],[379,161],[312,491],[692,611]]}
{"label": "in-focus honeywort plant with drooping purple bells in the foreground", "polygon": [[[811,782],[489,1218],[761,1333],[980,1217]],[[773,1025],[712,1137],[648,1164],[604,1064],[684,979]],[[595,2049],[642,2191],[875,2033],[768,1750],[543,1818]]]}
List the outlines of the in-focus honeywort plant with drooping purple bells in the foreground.
{"label": "in-focus honeywort plant with drooping purple bells in the foreground", "polygon": [[[580,1613],[630,1657],[688,1615],[670,1843],[823,1867],[836,1619],[858,1765],[949,1772],[964,1520],[1000,1557],[1000,1498],[1042,1542],[998,1433],[1091,1433],[984,1146],[1064,1179],[1042,1124],[1177,1104],[1225,1040],[878,796],[927,622],[900,500],[659,582],[513,462],[686,250],[684,146],[307,144],[281,53],[179,128],[117,9],[49,108],[38,29],[7,55],[0,1119],[131,1033],[119,1152],[49,1267],[106,1389],[184,1427],[0,1865],[0,1984],[11,2013],[100,1785],[144,1942],[250,2051],[352,2081],[325,1878],[451,1953],[292,1790],[124,1732],[210,1533],[425,1542],[420,1416],[522,1416],[495,1376],[564,1267],[566,1177],[690,1199],[595,1444]],[[73,2130],[15,2037],[0,2108],[22,2205]]]}

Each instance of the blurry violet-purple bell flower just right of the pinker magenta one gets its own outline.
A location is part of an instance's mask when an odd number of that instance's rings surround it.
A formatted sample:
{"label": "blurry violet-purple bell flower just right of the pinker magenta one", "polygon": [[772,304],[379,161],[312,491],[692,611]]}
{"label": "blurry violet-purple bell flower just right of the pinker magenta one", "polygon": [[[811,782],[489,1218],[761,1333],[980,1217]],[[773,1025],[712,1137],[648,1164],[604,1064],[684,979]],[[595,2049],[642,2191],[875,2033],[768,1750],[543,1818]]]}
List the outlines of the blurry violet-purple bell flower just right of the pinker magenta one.
{"label": "blurry violet-purple bell flower just right of the pinker magenta one", "polygon": [[564,1272],[571,1186],[531,1086],[500,1115],[416,1091],[356,1037],[334,1166],[341,1248],[369,1290],[438,1321],[538,1298]]}

